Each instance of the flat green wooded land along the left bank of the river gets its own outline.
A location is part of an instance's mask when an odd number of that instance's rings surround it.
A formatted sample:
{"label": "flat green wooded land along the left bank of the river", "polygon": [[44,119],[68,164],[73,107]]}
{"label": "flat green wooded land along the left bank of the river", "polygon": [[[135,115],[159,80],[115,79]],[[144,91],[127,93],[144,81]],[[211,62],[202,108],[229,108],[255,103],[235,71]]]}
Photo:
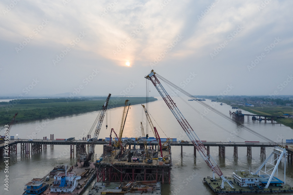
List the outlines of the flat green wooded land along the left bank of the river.
{"label": "flat green wooded land along the left bank of the river", "polygon": [[[81,114],[101,110],[105,103],[104,98],[91,98],[99,100],[90,100],[88,98],[80,99],[26,99],[11,100],[10,102],[0,102],[0,124],[9,124],[16,112],[17,122],[26,122],[39,119],[47,119],[72,114]],[[109,108],[124,106],[125,100],[130,100],[131,105],[143,104],[145,97],[112,97],[108,104]],[[149,102],[156,101],[154,97],[148,98]]]}

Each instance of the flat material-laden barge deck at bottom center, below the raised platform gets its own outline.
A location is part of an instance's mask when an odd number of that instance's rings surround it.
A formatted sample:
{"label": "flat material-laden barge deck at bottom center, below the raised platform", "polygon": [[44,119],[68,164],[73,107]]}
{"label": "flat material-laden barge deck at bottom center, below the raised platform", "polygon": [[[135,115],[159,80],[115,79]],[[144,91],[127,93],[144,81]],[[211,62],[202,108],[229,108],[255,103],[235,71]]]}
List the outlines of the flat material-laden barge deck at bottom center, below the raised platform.
{"label": "flat material-laden barge deck at bottom center, below the raised platform", "polygon": [[161,194],[161,183],[147,182],[96,182],[88,195],[97,194]]}

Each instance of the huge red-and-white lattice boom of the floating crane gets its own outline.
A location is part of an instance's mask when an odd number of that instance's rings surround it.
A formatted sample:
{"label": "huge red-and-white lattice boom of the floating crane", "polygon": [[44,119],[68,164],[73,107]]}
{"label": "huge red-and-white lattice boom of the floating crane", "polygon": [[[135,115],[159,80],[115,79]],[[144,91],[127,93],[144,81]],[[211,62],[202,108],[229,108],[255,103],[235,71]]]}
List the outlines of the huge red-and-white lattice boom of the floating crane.
{"label": "huge red-and-white lattice boom of the floating crane", "polygon": [[233,185],[229,183],[228,179],[224,177],[222,171],[220,170],[219,166],[217,165],[212,155],[209,153],[207,148],[205,148],[203,143],[200,141],[200,139],[197,137],[197,135],[191,128],[190,124],[184,118],[183,114],[181,114],[175,102],[172,100],[170,95],[168,95],[167,91],[163,88],[163,85],[160,83],[160,81],[156,77],[156,73],[154,72],[154,70],[151,70],[151,72],[147,76],[145,76],[145,78],[150,80],[153,83],[153,85],[158,90],[159,94],[161,95],[165,103],[167,104],[168,108],[171,110],[172,114],[177,119],[180,126],[185,131],[185,133],[187,134],[191,142],[193,143],[194,147],[200,153],[201,157],[205,160],[207,165],[212,169],[213,179],[214,179],[214,172],[215,172],[222,179],[222,185],[221,185],[222,188],[224,188],[224,182],[227,182],[232,188],[234,188]]}

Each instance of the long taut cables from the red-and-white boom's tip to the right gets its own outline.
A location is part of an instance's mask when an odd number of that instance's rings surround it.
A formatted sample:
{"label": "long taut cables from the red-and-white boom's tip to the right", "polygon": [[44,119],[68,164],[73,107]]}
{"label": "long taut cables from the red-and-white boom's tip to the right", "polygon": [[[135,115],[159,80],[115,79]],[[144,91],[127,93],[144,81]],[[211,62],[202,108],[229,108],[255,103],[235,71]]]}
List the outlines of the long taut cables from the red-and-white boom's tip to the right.
{"label": "long taut cables from the red-and-white boom's tip to the right", "polygon": [[[191,97],[191,98],[195,98],[193,95],[191,95],[190,93],[188,93],[188,92],[184,91],[183,89],[179,88],[178,86],[176,86],[175,84],[171,83],[171,82],[168,81],[167,79],[163,78],[163,77],[160,76],[159,74],[156,73],[156,75],[157,75],[158,78],[162,79],[166,84],[172,86],[173,88],[179,90],[180,92],[182,92],[183,94],[185,94],[185,95],[187,95],[187,96],[189,96],[189,97]],[[198,100],[198,98],[195,98],[195,99]],[[238,126],[240,126],[241,128],[245,129],[246,131],[251,132],[251,133],[254,134],[255,136],[258,136],[259,138],[262,138],[263,140],[268,141],[268,142],[270,142],[270,143],[275,143],[275,144],[277,144],[276,142],[274,142],[274,141],[272,141],[272,140],[266,138],[265,136],[263,136],[263,135],[261,135],[261,134],[255,132],[255,131],[253,131],[252,129],[250,129],[250,128],[244,126],[243,124],[241,124],[241,123],[239,123],[239,122],[237,122],[237,121],[234,121],[233,119],[231,119],[230,117],[226,116],[226,115],[223,114],[222,112],[220,112],[220,111],[214,109],[214,108],[211,107],[210,105],[207,105],[206,103],[204,103],[204,102],[202,102],[202,101],[197,101],[197,102],[199,102],[199,103],[202,104],[203,106],[209,108],[210,110],[212,110],[212,111],[215,112],[216,114],[219,114],[220,116],[222,116],[222,117],[224,117],[225,119],[229,120],[230,122],[233,122],[234,124],[237,124]]]}

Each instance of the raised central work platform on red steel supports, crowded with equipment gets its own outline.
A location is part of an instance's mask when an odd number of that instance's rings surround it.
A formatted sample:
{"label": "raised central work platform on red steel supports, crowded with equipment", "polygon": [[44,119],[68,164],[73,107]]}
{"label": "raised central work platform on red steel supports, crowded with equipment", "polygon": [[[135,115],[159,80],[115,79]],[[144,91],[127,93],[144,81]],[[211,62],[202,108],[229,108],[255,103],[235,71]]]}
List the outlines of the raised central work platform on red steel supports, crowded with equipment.
{"label": "raised central work platform on red steel supports, crowded with equipment", "polygon": [[123,143],[122,147],[115,148],[104,144],[103,155],[96,159],[97,182],[156,181],[170,184],[171,146],[162,150],[163,159],[160,159],[158,150],[156,146],[148,146],[149,159],[152,161],[148,163],[144,146]]}

